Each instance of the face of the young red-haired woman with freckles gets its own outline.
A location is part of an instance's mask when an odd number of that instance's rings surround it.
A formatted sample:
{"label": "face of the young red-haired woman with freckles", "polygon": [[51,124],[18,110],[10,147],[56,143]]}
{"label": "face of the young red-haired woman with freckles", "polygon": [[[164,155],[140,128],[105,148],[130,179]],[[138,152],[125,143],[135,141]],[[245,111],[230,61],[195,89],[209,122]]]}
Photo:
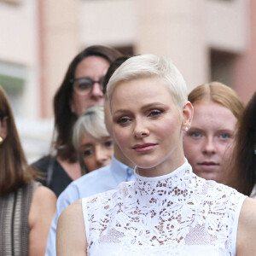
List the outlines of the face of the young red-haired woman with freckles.
{"label": "face of the young red-haired woman with freckles", "polygon": [[230,109],[216,102],[194,105],[192,125],[184,135],[183,148],[198,176],[226,183],[236,121]]}

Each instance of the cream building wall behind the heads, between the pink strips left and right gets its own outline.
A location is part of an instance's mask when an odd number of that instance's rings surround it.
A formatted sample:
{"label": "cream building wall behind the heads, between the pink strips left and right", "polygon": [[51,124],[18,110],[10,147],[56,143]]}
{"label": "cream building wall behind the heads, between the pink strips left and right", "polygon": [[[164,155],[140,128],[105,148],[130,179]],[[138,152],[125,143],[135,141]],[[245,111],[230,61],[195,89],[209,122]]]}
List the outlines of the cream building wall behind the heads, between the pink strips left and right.
{"label": "cream building wall behind the heads, between the pink strips left and right", "polygon": [[52,115],[67,65],[90,44],[169,55],[190,90],[210,80],[210,49],[240,54],[247,47],[247,0],[45,0],[43,6],[45,116]]}

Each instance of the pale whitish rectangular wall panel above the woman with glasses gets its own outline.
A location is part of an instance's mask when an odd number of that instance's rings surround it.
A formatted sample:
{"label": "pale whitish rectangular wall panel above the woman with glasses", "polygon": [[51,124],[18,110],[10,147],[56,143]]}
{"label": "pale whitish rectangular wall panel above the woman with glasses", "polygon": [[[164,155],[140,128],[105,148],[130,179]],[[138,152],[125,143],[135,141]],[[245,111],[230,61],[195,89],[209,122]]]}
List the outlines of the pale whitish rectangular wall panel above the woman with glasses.
{"label": "pale whitish rectangular wall panel above the woman with glasses", "polygon": [[133,45],[136,42],[136,0],[81,1],[81,44]]}

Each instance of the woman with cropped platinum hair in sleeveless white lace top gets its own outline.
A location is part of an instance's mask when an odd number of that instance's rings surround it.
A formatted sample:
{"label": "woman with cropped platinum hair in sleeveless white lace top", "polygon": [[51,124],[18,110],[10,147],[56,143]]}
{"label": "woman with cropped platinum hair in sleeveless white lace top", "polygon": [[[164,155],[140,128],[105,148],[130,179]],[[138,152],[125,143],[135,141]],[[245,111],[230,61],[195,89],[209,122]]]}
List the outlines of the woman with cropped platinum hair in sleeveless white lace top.
{"label": "woman with cropped platinum hair in sleeveless white lace top", "polygon": [[107,93],[113,137],[136,180],[67,207],[57,255],[256,255],[256,202],[196,176],[184,157],[193,107],[172,61],[131,57]]}

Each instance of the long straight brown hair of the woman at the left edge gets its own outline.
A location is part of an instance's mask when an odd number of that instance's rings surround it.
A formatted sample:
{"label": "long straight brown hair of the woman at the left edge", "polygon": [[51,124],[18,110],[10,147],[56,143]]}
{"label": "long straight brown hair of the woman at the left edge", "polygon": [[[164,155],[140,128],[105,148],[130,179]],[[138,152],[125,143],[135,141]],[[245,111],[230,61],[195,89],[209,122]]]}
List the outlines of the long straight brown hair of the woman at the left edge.
{"label": "long straight brown hair of the woman at the left edge", "polygon": [[0,119],[6,118],[8,134],[0,145],[0,195],[8,194],[36,177],[27,165],[8,97],[0,86]]}

